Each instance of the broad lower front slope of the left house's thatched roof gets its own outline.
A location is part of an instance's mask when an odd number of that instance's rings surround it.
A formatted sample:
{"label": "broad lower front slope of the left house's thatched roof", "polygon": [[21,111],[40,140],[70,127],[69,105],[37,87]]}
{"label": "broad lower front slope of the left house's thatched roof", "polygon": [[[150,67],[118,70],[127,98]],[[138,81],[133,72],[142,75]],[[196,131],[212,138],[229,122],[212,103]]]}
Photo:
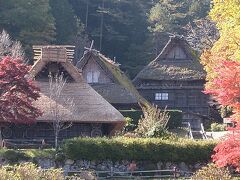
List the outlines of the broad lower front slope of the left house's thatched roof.
{"label": "broad lower front slope of the left house's thatched roof", "polygon": [[[43,111],[43,115],[38,118],[38,121],[52,121],[54,117],[50,108],[53,100],[49,97],[49,83],[37,82],[37,85],[40,87],[41,97],[36,101],[36,105]],[[70,112],[65,107],[64,98],[57,102],[59,111],[65,112],[61,114],[69,114],[63,121],[117,123],[124,120],[121,113],[87,83],[66,83],[61,94],[63,97],[72,99],[75,104],[75,111]]]}

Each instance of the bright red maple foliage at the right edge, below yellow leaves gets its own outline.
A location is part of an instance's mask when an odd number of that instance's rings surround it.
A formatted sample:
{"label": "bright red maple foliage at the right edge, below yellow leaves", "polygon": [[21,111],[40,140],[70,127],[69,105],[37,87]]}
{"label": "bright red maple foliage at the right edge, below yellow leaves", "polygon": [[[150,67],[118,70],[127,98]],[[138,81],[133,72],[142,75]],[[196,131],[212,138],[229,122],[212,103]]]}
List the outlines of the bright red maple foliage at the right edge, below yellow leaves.
{"label": "bright red maple foliage at the right edge, below yellow leaves", "polygon": [[218,103],[233,108],[232,120],[236,127],[214,148],[213,162],[218,166],[232,166],[240,172],[240,62],[222,61],[215,68],[216,77],[206,93]]}

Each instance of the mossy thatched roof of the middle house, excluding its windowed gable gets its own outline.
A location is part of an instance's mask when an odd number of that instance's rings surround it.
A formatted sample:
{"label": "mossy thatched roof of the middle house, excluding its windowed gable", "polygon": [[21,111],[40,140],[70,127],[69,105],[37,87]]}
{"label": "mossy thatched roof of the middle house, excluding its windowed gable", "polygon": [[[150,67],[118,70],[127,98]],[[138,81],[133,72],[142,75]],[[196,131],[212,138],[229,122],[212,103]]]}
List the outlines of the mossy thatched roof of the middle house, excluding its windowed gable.
{"label": "mossy thatched roof of the middle house, excluding its windowed gable", "polygon": [[[135,90],[131,81],[120,70],[120,65],[118,63],[105,57],[96,50],[87,50],[77,63],[77,67],[83,71],[90,59],[94,60],[114,82],[107,84],[92,84],[92,87],[99,94],[112,104],[136,104],[138,102],[140,95]],[[129,88],[131,88],[131,90]]]}

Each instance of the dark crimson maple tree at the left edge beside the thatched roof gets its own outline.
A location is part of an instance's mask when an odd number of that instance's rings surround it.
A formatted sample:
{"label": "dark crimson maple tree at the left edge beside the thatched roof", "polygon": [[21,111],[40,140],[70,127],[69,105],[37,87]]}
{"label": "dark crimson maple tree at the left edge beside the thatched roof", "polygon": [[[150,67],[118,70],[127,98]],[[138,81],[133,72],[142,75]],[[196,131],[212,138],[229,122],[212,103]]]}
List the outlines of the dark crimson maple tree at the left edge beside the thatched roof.
{"label": "dark crimson maple tree at the left edge beside the thatched roof", "polygon": [[41,115],[34,107],[39,88],[26,75],[29,66],[19,59],[5,57],[0,61],[0,121],[33,123]]}

